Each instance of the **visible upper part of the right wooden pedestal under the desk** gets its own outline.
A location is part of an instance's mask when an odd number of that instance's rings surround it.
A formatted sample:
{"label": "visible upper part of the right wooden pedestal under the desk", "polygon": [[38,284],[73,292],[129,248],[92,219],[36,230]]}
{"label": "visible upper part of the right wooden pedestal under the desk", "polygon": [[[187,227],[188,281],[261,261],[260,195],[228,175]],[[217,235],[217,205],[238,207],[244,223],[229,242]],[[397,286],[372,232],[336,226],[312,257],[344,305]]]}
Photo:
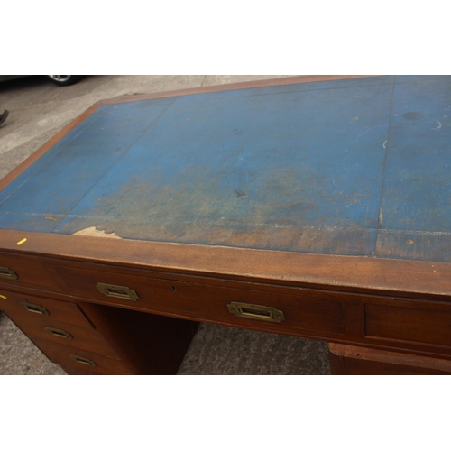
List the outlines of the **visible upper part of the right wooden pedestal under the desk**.
{"label": "visible upper part of the right wooden pedestal under the desk", "polygon": [[335,375],[451,374],[451,360],[335,343],[329,343],[329,360]]}

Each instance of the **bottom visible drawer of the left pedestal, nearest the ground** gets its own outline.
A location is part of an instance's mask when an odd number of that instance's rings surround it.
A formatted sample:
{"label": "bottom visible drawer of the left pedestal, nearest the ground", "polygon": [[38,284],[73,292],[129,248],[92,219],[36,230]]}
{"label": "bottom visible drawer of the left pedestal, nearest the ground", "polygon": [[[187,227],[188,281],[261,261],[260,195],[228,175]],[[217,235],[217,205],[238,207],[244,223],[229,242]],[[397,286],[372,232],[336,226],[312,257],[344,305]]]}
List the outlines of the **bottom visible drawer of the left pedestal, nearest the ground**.
{"label": "bottom visible drawer of the left pedestal, nearest the ground", "polygon": [[43,354],[62,367],[73,367],[79,371],[97,374],[133,374],[133,370],[119,360],[97,355],[88,351],[58,345],[47,340],[32,338]]}

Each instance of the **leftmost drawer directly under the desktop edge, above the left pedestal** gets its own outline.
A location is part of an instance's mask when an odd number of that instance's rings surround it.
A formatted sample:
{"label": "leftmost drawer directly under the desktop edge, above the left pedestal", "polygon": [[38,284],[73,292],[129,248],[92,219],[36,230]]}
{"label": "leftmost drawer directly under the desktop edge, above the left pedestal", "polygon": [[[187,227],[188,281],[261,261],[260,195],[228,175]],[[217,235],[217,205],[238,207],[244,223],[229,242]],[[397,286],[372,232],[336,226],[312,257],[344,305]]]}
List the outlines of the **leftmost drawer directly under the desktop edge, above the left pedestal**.
{"label": "leftmost drawer directly under the desktop edge, above the left pedestal", "polygon": [[0,283],[61,290],[45,259],[16,253],[0,253]]}

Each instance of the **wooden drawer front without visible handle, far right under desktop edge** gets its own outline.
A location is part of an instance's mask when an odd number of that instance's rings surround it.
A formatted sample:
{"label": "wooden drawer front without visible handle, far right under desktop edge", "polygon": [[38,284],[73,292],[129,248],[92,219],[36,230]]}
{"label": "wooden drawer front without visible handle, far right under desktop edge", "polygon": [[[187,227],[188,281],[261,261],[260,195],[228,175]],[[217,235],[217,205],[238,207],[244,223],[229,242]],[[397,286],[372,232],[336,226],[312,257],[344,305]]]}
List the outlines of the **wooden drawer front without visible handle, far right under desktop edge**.
{"label": "wooden drawer front without visible handle, far right under desktop edge", "polygon": [[451,346],[451,305],[422,301],[400,304],[366,304],[366,336]]}

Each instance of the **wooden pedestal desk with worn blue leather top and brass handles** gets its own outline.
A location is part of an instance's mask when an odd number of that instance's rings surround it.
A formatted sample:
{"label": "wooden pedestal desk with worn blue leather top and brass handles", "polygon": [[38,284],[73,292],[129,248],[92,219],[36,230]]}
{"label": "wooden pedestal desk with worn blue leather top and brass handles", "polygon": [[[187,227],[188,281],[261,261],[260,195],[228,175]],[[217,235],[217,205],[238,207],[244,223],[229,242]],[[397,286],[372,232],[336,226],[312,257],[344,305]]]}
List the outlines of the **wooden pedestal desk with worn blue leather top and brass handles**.
{"label": "wooden pedestal desk with worn blue leather top and brass handles", "polygon": [[198,322],[451,373],[450,118],[446,77],[99,102],[0,182],[0,308],[67,373],[175,373]]}

